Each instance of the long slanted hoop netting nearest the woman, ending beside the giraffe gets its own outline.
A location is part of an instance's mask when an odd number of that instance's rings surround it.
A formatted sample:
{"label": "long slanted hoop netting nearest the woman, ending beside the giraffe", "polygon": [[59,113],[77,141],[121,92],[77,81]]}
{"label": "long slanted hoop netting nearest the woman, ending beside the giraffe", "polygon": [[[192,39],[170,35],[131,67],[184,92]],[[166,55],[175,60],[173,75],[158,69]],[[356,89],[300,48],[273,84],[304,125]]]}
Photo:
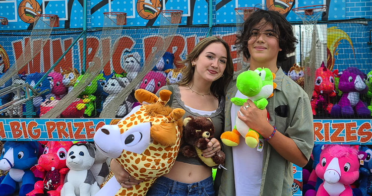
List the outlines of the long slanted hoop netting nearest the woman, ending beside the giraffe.
{"label": "long slanted hoop netting nearest the woman, ending beside the giraffe", "polygon": [[[128,111],[126,107],[132,104],[130,104],[130,100],[125,100],[123,104],[123,97],[128,97],[128,95],[133,91],[133,89],[138,84],[140,84],[141,81],[144,80],[146,74],[148,74],[147,75],[148,81],[146,80],[146,83],[144,85],[148,86],[150,82],[154,82],[154,84],[151,84],[152,85],[151,90],[154,91],[155,88],[162,85],[162,81],[164,82],[163,85],[165,85],[166,80],[157,82],[155,82],[155,79],[152,80],[152,78],[162,78],[162,75],[164,76],[165,74],[160,75],[160,73],[158,72],[149,71],[154,66],[155,70],[158,71],[165,70],[164,67],[165,64],[167,64],[167,62],[163,62],[165,63],[163,66],[156,65],[158,64],[159,60],[163,57],[169,45],[173,41],[176,30],[181,21],[181,17],[182,11],[180,10],[160,11],[159,14],[160,24],[158,29],[158,36],[151,40],[152,43],[151,45],[153,47],[151,48],[151,53],[148,55],[146,61],[144,62],[143,68],[141,69],[141,71],[138,72],[138,74],[130,81],[130,83],[123,90],[121,90],[115,97],[113,98],[110,97],[110,99],[107,100],[109,102],[105,104],[105,107],[103,107],[102,112],[100,114],[100,118],[114,118],[115,116],[117,116],[117,114],[119,114],[120,116],[124,115]],[[147,82],[149,82],[149,84],[147,84]],[[156,91],[154,93],[156,93]]]}

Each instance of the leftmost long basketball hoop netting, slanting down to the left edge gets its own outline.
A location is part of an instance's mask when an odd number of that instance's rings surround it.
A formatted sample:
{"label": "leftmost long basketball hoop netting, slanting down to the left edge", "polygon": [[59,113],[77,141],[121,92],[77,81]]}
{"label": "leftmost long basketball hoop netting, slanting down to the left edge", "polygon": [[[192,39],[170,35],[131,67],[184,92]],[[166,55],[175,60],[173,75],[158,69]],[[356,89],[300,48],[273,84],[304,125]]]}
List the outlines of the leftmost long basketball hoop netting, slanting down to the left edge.
{"label": "leftmost long basketball hoop netting, slanting down to the left edge", "polygon": [[14,65],[1,76],[0,86],[5,84],[5,82],[40,53],[41,49],[48,42],[55,22],[57,22],[57,20],[54,16],[35,16],[34,27],[30,38],[27,41],[25,40],[24,47],[22,47],[24,50],[17,58]]}

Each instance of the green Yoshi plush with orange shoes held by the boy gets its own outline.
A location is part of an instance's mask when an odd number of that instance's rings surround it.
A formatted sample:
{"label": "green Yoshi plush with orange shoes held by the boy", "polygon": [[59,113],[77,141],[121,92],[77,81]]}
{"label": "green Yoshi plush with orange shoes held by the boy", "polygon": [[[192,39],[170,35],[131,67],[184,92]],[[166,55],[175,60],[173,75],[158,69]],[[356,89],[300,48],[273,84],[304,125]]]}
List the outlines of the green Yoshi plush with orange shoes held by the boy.
{"label": "green Yoshi plush with orange shoes held by the boy", "polygon": [[[231,99],[235,105],[242,106],[248,99],[252,100],[254,105],[263,110],[268,104],[267,98],[273,96],[273,90],[276,88],[276,83],[273,82],[275,73],[272,73],[268,68],[257,68],[254,71],[248,70],[240,73],[237,78],[237,87],[246,99],[234,97]],[[242,113],[240,113],[243,115]],[[221,140],[228,146],[237,146],[239,144],[240,135],[244,135],[246,144],[255,148],[262,138],[256,131],[250,129],[239,118],[236,119],[233,131],[226,131],[221,134]]]}

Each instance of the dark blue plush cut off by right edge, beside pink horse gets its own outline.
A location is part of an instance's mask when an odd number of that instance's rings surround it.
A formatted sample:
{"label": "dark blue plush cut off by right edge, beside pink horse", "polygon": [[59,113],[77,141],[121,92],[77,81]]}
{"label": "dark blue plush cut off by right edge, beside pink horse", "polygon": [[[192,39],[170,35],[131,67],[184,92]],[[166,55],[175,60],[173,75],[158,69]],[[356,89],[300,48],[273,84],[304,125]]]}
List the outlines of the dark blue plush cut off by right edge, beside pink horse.
{"label": "dark blue plush cut off by right edge, beside pink horse", "polygon": [[367,146],[360,146],[360,151],[366,153],[365,159],[363,159],[363,165],[359,168],[359,189],[362,191],[363,196],[372,195],[372,149]]}

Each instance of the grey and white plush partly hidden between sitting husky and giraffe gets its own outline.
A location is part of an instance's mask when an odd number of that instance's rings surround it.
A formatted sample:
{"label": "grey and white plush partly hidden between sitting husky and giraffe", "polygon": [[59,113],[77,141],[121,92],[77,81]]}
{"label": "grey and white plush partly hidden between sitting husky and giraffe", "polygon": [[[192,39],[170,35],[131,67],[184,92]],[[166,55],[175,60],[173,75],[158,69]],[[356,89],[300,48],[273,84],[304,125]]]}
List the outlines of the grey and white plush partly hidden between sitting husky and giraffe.
{"label": "grey and white plush partly hidden between sitting husky and giraffe", "polygon": [[90,167],[90,171],[92,171],[98,185],[101,185],[106,180],[106,177],[109,175],[109,166],[106,162],[108,157],[102,154],[101,151],[97,150],[94,143],[91,143],[90,145],[94,148],[96,154],[94,163],[92,167]]}

